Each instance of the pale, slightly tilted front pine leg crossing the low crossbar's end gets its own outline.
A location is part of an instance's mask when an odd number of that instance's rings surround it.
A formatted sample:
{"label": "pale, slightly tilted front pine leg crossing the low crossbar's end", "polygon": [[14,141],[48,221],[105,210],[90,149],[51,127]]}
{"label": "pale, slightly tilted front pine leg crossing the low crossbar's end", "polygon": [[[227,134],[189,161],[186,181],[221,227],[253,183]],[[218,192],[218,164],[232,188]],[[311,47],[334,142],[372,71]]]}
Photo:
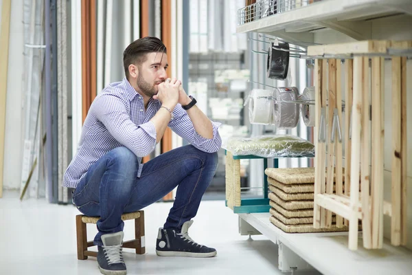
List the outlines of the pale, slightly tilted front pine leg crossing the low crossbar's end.
{"label": "pale, slightly tilted front pine leg crossing the low crossbar's end", "polygon": [[[359,201],[359,162],[361,160],[361,110],[362,110],[362,71],[363,58],[354,58],[354,96],[352,111],[352,155],[351,155],[351,185],[350,203],[351,214],[349,218],[349,248],[358,249],[358,217],[356,215],[356,205]],[[345,184],[346,185],[346,184]]]}

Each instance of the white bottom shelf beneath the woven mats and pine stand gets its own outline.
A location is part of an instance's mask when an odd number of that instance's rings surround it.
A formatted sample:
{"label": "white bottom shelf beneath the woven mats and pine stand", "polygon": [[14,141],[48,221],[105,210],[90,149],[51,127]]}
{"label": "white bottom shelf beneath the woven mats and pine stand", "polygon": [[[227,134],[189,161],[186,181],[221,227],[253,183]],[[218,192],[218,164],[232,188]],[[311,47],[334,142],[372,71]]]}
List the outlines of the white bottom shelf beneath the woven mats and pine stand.
{"label": "white bottom shelf beneath the woven mats and pine stand", "polygon": [[325,275],[409,274],[412,270],[412,252],[394,247],[388,240],[382,250],[360,248],[352,252],[347,249],[347,232],[289,234],[276,228],[269,221],[270,216],[269,213],[239,214],[242,221],[279,245],[279,269],[283,272],[311,267]]}

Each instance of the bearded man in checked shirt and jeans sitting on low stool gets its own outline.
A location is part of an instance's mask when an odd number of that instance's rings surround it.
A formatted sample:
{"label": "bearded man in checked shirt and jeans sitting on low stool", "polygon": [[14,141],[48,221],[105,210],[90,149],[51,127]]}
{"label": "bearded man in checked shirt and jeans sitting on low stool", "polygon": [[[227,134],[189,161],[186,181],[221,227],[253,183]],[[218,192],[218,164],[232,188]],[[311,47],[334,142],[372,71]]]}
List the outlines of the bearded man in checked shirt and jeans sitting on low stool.
{"label": "bearded man in checked shirt and jeans sitting on low stool", "polygon": [[[196,107],[179,80],[167,78],[168,56],[159,39],[131,43],[123,61],[126,78],[105,87],[91,104],[63,182],[75,188],[73,202],[80,212],[100,216],[94,239],[100,272],[126,274],[121,215],[158,201],[176,186],[173,206],[159,228],[156,253],[215,256],[214,248],[195,243],[187,230],[218,166],[219,124]],[[167,126],[192,145],[141,164]]]}

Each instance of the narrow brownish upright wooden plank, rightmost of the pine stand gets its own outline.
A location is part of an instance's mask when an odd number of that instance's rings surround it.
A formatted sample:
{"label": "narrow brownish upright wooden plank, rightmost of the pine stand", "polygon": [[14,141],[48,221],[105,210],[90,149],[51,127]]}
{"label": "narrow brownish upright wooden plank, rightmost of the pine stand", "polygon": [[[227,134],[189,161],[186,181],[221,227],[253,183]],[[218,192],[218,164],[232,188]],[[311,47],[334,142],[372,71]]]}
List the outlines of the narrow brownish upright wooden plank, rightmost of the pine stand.
{"label": "narrow brownish upright wooden plank, rightmost of the pine stand", "polygon": [[408,202],[407,202],[407,184],[408,184],[408,137],[407,137],[407,58],[402,57],[401,59],[401,113],[400,113],[400,136],[401,136],[401,205],[400,205],[400,243],[401,245],[407,245],[408,241]]}

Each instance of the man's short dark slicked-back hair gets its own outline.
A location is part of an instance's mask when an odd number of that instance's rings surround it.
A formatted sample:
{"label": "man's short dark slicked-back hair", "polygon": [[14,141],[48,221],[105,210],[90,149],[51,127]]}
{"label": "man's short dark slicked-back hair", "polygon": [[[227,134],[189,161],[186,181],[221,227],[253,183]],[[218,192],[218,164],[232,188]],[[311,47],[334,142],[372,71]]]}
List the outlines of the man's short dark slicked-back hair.
{"label": "man's short dark slicked-back hair", "polygon": [[147,60],[146,54],[162,52],[167,54],[166,47],[157,37],[146,36],[133,41],[123,52],[123,66],[126,78],[128,78],[128,67],[130,64],[140,66]]}

